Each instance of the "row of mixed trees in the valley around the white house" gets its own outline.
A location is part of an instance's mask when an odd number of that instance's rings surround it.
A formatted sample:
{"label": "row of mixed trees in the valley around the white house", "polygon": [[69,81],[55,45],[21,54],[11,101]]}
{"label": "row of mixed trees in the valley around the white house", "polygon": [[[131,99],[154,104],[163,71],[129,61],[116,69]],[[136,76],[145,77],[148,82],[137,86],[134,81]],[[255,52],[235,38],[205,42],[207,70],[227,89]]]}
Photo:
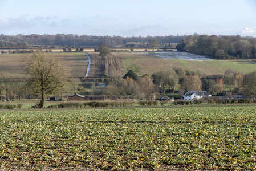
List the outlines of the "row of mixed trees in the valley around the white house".
{"label": "row of mixed trees in the valley around the white house", "polygon": [[135,99],[157,99],[166,93],[180,98],[186,91],[200,90],[216,96],[243,94],[253,99],[256,95],[256,71],[242,75],[229,69],[223,75],[201,76],[183,68],[172,68],[151,76],[137,76],[129,70],[124,78],[110,78],[108,86],[99,92],[116,97],[128,95]]}

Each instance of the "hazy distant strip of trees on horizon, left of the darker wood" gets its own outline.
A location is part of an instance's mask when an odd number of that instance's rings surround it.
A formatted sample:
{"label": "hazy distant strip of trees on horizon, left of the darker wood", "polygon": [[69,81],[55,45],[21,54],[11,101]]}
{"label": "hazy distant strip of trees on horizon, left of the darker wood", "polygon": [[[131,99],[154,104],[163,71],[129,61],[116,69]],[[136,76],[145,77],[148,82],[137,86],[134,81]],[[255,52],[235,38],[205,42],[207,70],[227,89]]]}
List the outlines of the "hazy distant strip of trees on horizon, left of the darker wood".
{"label": "hazy distant strip of trees on horizon, left of the darker wood", "polygon": [[101,42],[109,46],[120,46],[128,48],[146,48],[153,38],[160,43],[160,47],[172,47],[170,43],[178,43],[186,36],[147,36],[147,37],[121,37],[121,36],[92,36],[75,34],[56,34],[56,35],[0,35],[0,47],[26,47],[38,46],[72,46],[72,47],[98,47]]}

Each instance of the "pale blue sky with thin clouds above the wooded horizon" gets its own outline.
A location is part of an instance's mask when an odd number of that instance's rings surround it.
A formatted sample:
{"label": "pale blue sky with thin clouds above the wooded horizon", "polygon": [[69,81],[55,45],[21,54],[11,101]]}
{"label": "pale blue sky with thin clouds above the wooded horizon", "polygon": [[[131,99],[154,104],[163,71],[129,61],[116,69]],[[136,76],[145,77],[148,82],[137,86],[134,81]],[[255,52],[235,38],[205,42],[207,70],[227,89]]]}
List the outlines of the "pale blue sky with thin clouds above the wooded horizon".
{"label": "pale blue sky with thin clouds above the wooded horizon", "polygon": [[0,34],[256,37],[256,0],[0,0]]}

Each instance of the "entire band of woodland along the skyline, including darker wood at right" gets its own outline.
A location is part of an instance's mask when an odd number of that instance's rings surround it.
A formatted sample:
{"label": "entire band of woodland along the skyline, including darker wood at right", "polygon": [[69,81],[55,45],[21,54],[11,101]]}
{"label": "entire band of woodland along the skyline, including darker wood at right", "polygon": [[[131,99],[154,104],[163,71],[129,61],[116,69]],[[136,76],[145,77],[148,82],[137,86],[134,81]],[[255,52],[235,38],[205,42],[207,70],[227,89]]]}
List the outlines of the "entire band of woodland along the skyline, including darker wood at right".
{"label": "entire band of woodland along the skyline, including darker wood at right", "polygon": [[183,36],[92,36],[74,34],[56,35],[0,35],[0,47],[27,46],[66,46],[99,47],[105,42],[109,47],[149,48],[152,39],[159,43],[158,48],[177,48],[178,51],[210,56],[214,59],[256,59],[256,38],[223,35],[183,35]]}

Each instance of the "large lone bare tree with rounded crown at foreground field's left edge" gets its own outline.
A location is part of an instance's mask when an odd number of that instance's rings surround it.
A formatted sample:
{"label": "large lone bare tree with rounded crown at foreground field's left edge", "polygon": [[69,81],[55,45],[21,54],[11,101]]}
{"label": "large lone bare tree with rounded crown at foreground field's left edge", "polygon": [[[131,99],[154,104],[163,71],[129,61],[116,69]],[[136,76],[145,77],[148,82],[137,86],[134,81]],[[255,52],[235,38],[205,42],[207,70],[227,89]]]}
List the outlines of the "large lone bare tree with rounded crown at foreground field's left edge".
{"label": "large lone bare tree with rounded crown at foreground field's left edge", "polygon": [[60,91],[66,83],[68,72],[62,62],[42,51],[23,56],[22,63],[27,86],[41,94],[39,107],[43,108],[46,95]]}

